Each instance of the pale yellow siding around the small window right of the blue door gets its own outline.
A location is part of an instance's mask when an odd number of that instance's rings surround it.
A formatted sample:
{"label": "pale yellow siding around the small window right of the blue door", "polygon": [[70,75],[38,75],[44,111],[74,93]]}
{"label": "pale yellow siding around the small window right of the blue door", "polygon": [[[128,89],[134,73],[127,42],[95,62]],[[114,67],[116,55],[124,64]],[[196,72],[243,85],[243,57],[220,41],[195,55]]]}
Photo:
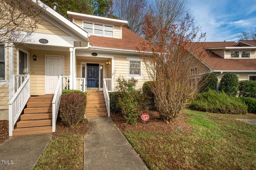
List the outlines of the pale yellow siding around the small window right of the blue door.
{"label": "pale yellow siding around the small window right of the blue door", "polygon": [[[139,58],[139,57],[138,57]],[[118,78],[129,79],[129,60],[126,57],[114,57],[114,88],[117,86]],[[138,83],[136,88],[140,89],[145,81],[148,81],[148,73],[145,64],[141,62],[141,78],[137,79]]]}

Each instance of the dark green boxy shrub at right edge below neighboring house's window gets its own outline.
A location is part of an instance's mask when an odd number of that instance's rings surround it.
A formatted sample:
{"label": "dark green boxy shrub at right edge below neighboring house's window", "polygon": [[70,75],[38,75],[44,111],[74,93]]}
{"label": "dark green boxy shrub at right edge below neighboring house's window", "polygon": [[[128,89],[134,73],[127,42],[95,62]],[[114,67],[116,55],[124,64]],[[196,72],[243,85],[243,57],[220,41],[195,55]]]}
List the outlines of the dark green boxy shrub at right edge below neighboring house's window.
{"label": "dark green boxy shrub at right edge below neighboring house's window", "polygon": [[249,80],[240,81],[239,96],[256,98],[256,81],[249,81]]}

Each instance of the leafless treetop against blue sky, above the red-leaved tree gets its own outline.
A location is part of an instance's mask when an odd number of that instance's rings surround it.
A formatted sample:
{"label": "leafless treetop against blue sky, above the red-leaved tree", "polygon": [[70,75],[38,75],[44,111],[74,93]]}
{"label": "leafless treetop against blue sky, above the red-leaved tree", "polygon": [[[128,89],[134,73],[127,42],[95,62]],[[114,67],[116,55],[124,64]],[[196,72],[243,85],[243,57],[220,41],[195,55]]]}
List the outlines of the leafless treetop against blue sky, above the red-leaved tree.
{"label": "leafless treetop against blue sky, above the red-leaved tree", "polygon": [[160,29],[182,21],[188,10],[188,0],[151,0],[151,15]]}

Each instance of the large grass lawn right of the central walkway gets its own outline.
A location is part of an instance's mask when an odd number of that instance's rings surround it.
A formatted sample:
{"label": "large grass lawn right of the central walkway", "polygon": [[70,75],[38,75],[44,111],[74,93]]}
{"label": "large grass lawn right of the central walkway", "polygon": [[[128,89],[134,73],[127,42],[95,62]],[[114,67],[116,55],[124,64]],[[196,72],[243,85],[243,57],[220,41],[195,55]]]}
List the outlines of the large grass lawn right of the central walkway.
{"label": "large grass lawn right of the central walkway", "polygon": [[181,117],[187,123],[181,130],[175,120],[165,125],[172,131],[155,125],[157,130],[147,130],[154,120],[117,125],[150,169],[256,169],[256,126],[235,120],[256,118],[255,114],[186,110]]}

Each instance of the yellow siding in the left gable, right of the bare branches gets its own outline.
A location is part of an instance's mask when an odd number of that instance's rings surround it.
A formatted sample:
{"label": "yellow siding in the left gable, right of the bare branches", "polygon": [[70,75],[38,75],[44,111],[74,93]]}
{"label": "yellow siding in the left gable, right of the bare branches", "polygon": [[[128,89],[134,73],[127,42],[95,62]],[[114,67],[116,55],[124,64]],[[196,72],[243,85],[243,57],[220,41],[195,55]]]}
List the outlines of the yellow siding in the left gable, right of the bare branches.
{"label": "yellow siding in the left gable, right of the bare branches", "polygon": [[47,33],[52,35],[58,35],[58,36],[69,36],[66,32],[62,31],[49,21],[46,21],[43,18],[39,18],[38,28],[35,30],[37,33]]}

